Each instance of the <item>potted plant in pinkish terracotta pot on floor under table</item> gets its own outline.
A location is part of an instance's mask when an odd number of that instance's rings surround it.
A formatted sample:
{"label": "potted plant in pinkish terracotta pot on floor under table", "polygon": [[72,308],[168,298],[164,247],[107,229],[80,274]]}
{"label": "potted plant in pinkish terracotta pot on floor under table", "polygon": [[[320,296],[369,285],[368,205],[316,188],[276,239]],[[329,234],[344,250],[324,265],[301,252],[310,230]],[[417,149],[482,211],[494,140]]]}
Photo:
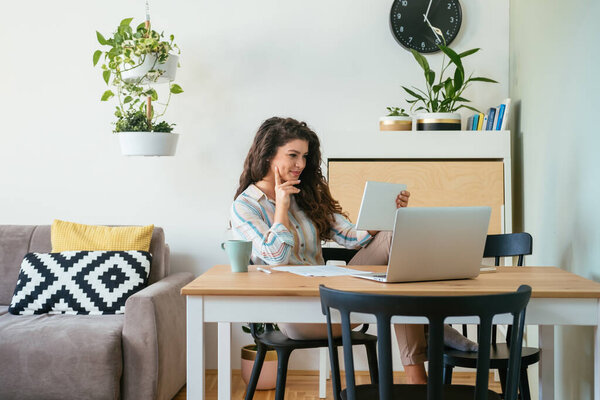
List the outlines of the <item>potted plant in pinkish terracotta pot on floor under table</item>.
{"label": "potted plant in pinkish terracotta pot on floor under table", "polygon": [[[278,330],[277,324],[272,324],[273,328]],[[254,323],[256,329],[255,334],[260,335],[265,331],[266,324]],[[242,330],[246,333],[252,333],[251,329],[247,325],[242,325]],[[252,375],[252,367],[254,366],[254,360],[256,359],[256,344],[249,344],[242,347],[242,379],[246,382],[250,382],[250,375]],[[275,389],[277,385],[277,352],[273,349],[267,350],[265,361],[263,362],[260,375],[258,376],[258,382],[256,384],[256,390],[271,390]]]}

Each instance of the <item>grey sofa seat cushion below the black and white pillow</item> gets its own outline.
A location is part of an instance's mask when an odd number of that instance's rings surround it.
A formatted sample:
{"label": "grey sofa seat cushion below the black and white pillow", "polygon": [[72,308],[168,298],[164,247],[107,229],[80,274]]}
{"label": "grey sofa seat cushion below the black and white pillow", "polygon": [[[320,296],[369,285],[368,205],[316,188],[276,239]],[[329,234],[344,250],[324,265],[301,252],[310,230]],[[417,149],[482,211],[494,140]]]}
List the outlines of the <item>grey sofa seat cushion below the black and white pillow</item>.
{"label": "grey sofa seat cushion below the black and white pillow", "polygon": [[0,399],[118,399],[123,320],[0,316]]}

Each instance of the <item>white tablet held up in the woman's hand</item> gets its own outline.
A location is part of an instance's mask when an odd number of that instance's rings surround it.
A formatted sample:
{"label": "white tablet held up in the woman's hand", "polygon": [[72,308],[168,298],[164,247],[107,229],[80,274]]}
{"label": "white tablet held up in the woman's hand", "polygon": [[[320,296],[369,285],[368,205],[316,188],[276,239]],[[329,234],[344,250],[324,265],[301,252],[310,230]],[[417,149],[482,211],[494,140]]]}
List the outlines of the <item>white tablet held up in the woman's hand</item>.
{"label": "white tablet held up in the woman's hand", "polygon": [[392,231],[396,217],[396,197],[406,190],[402,183],[367,181],[356,219],[361,231]]}

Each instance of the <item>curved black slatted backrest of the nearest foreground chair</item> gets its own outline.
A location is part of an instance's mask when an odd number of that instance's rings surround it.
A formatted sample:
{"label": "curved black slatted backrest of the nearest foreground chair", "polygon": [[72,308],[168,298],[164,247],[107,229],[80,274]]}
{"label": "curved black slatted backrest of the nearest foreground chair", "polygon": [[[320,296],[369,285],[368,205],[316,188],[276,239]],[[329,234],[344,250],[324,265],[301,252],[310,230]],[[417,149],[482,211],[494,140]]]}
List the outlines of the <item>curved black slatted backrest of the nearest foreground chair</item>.
{"label": "curved black slatted backrest of the nearest foreground chair", "polygon": [[[490,340],[494,315],[513,315],[513,343],[522,343],[525,308],[531,296],[531,287],[522,285],[516,292],[479,296],[395,296],[345,292],[319,287],[321,308],[327,317],[329,345],[332,346],[331,309],[340,312],[342,343],[346,367],[346,395],[356,398],[354,363],[350,341],[350,313],[372,314],[377,320],[377,345],[379,357],[379,399],[392,397],[391,318],[395,315],[422,316],[429,321],[428,360],[429,377],[427,399],[442,399],[444,320],[450,316],[477,316],[480,321],[479,352],[475,399],[487,399],[490,365]],[[505,399],[516,400],[521,363],[521,346],[511,346]]]}

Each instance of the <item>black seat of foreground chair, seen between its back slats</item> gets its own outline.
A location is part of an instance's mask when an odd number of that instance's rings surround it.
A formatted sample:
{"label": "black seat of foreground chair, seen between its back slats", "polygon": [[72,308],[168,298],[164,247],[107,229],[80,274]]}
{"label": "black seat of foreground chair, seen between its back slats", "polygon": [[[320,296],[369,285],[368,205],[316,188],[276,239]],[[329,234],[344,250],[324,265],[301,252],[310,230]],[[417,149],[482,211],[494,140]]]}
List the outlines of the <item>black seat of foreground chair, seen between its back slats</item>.
{"label": "black seat of foreground chair, seen between its back slats", "polygon": [[[427,385],[394,385],[392,387],[393,399],[427,399]],[[341,392],[342,399],[346,400],[346,389]],[[468,385],[444,385],[444,400],[465,400],[475,397],[475,387]],[[356,398],[374,400],[379,398],[378,385],[356,386]],[[488,390],[488,400],[500,400],[498,393]]]}

